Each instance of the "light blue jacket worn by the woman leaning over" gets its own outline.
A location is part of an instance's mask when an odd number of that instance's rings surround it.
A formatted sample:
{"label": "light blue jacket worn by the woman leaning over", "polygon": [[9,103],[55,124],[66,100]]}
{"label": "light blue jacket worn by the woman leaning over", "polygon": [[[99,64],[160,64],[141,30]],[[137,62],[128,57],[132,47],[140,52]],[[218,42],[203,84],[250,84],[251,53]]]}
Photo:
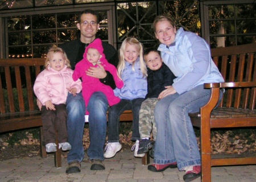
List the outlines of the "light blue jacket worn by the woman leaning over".
{"label": "light blue jacket worn by the woman leaning over", "polygon": [[178,94],[200,84],[224,82],[220,71],[212,61],[207,42],[192,32],[179,28],[174,43],[169,47],[160,44],[164,63],[177,77],[172,86]]}

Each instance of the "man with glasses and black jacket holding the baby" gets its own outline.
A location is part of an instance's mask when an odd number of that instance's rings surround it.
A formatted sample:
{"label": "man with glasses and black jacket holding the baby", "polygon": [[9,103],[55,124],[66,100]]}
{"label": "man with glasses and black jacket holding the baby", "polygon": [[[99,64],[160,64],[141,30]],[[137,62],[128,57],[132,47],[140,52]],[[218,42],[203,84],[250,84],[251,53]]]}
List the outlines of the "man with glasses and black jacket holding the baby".
{"label": "man with glasses and black jacket holding the baby", "polygon": [[[63,48],[71,61],[72,69],[77,62],[82,60],[86,46],[96,39],[97,29],[100,27],[98,17],[93,10],[84,10],[80,13],[77,28],[80,29],[80,35],[76,40],[59,45]],[[102,43],[104,54],[110,64],[117,65],[118,54],[114,47],[107,43]],[[90,77],[99,78],[104,84],[115,88],[112,74],[105,71],[104,68],[91,67],[86,71]],[[82,145],[82,136],[84,133],[84,115],[85,105],[81,93],[77,96],[72,94],[67,98],[67,127],[68,141],[72,149],[68,153],[68,167],[66,173],[76,173],[81,171],[81,161],[84,158],[84,147]],[[108,100],[102,92],[95,92],[88,103],[89,115],[89,137],[90,145],[88,155],[92,161],[90,170],[105,170],[102,163],[104,160],[104,145],[106,138],[106,111],[108,110]]]}

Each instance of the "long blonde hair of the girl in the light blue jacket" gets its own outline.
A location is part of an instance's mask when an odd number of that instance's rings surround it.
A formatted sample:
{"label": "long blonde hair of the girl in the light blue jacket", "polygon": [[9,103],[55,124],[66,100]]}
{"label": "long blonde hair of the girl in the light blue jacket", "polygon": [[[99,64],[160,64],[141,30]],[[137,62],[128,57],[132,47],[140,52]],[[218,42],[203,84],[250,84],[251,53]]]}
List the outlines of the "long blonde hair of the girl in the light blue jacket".
{"label": "long blonde hair of the girl in the light blue jacket", "polygon": [[[143,77],[147,77],[147,66],[146,66],[145,62],[143,61],[143,46],[137,39],[135,39],[133,37],[127,37],[123,41],[121,48],[119,49],[119,62],[117,65],[118,77],[121,78],[121,74],[122,74],[123,70],[125,69],[125,48],[126,48],[127,44],[133,45],[137,48],[137,50],[139,52],[139,64],[141,67]],[[135,61],[133,62],[133,65],[132,65],[133,70],[135,70],[134,64],[135,64]]]}

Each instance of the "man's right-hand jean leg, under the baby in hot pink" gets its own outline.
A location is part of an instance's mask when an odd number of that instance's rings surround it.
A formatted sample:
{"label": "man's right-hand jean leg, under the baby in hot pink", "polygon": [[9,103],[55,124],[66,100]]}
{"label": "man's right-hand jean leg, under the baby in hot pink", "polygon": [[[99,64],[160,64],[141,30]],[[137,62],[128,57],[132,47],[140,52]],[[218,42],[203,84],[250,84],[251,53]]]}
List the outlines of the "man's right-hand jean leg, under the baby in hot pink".
{"label": "man's right-hand jean leg, under the baby in hot pink", "polygon": [[87,151],[90,160],[104,160],[106,142],[106,112],[108,100],[102,92],[94,92],[88,103],[90,145]]}

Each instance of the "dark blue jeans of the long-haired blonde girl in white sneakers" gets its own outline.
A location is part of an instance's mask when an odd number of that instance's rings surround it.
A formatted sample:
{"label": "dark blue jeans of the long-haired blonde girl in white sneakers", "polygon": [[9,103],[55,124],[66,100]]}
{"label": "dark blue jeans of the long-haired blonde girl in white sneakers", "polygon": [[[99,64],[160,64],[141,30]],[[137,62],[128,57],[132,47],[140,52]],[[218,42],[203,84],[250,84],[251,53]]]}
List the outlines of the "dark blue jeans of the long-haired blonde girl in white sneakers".
{"label": "dark blue jeans of the long-haired blonde girl in white sneakers", "polygon": [[109,109],[109,130],[108,139],[109,142],[119,142],[119,116],[123,111],[130,110],[133,112],[133,134],[131,136],[132,141],[140,139],[139,136],[139,109],[141,109],[141,103],[144,98],[137,98],[133,100],[121,99],[118,104],[113,105]]}

